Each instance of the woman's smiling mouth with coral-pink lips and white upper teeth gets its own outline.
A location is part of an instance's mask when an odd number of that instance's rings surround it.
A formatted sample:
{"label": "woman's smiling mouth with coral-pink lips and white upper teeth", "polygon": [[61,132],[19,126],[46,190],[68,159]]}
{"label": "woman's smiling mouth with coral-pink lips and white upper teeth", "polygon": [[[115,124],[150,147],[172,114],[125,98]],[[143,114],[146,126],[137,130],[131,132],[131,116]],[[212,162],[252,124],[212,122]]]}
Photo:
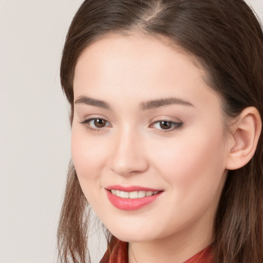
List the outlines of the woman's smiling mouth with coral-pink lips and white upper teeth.
{"label": "woman's smiling mouth with coral-pink lips and white upper teeth", "polygon": [[141,186],[111,185],[106,187],[109,201],[120,210],[133,211],[155,201],[162,190]]}

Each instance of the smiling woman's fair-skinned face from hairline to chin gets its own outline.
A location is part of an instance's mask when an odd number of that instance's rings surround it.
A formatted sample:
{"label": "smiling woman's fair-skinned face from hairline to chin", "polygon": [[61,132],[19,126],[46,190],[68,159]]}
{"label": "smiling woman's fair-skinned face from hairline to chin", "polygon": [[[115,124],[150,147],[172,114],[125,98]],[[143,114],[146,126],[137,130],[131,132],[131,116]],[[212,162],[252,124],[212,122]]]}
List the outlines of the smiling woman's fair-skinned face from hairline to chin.
{"label": "smiling woman's fair-skinned face from hairline to chin", "polygon": [[190,55],[112,34],[74,77],[71,151],[80,185],[124,241],[212,238],[226,177],[220,98]]}

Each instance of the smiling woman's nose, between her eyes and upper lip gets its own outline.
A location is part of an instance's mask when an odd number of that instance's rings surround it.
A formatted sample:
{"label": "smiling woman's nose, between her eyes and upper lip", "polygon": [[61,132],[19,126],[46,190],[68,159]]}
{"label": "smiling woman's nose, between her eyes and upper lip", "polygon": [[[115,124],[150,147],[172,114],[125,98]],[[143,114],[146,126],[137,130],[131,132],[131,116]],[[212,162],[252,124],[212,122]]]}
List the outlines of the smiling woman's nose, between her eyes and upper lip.
{"label": "smiling woman's nose, between her eyes and upper lip", "polygon": [[149,163],[143,145],[142,136],[130,129],[116,134],[109,157],[110,170],[120,176],[145,172]]}

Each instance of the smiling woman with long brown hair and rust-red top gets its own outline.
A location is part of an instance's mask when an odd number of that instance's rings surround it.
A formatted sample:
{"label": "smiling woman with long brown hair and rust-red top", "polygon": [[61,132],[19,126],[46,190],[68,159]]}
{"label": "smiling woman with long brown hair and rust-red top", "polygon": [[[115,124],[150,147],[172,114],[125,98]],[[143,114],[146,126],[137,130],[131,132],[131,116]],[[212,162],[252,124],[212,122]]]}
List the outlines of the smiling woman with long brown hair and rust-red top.
{"label": "smiling woman with long brown hair and rust-red top", "polygon": [[61,83],[70,164],[62,262],[259,263],[263,34],[241,0],[87,0]]}

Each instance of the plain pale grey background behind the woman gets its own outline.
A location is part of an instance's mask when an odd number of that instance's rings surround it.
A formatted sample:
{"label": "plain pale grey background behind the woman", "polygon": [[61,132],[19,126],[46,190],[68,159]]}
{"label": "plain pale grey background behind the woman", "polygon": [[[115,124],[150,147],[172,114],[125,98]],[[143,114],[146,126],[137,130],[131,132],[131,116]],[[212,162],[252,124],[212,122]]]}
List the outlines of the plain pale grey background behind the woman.
{"label": "plain pale grey background behind the woman", "polygon": [[[0,262],[56,261],[70,160],[59,64],[83,0],[0,0]],[[249,1],[263,18],[263,0]],[[93,242],[99,246],[99,240]],[[103,254],[93,249],[96,263]]]}

